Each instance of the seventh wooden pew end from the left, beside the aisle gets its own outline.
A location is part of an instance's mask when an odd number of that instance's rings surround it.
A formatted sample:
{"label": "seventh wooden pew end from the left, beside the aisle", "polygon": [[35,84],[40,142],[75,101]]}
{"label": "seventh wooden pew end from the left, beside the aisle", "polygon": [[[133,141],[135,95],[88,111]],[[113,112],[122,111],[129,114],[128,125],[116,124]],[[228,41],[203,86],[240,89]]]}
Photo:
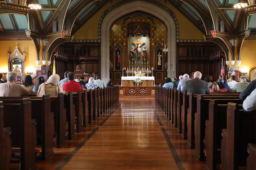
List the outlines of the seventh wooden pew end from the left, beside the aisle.
{"label": "seventh wooden pew end from the left, beside the aisle", "polygon": [[[88,90],[89,91],[89,90]],[[81,93],[82,103],[83,103],[83,127],[85,128],[88,125],[88,117],[89,117],[89,105],[88,105],[88,94],[87,89]]]}

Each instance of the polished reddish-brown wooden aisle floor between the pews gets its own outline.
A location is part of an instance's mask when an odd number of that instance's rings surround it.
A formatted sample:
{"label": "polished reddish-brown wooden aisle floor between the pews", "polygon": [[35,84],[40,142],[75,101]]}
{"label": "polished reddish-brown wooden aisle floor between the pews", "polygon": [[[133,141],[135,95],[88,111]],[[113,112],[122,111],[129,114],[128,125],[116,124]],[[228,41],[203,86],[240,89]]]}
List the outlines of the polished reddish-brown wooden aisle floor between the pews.
{"label": "polished reddish-brown wooden aisle floor between the pews", "polygon": [[[39,148],[38,148],[39,149]],[[37,169],[205,169],[154,97],[120,97]],[[10,164],[18,169],[18,164]]]}

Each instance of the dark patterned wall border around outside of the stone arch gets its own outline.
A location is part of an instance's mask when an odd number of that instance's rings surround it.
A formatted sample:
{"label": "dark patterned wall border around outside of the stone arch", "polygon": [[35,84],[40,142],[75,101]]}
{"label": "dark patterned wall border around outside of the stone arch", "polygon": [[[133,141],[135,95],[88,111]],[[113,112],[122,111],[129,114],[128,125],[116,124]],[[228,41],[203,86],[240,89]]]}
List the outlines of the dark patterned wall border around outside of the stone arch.
{"label": "dark patterned wall border around outside of the stone arch", "polygon": [[[101,38],[101,27],[102,27],[102,21],[105,18],[106,14],[108,14],[110,11],[112,11],[114,8],[116,8],[119,5],[123,5],[126,2],[133,1],[133,0],[123,0],[120,1],[110,7],[108,7],[103,14],[100,17],[99,23],[98,23],[98,39],[73,39],[72,43],[100,43],[100,38]],[[155,0],[148,0],[147,2],[150,2],[152,4],[155,4],[162,8],[163,10],[167,11],[173,18],[176,26],[176,42],[206,42],[204,39],[180,39],[180,27],[179,27],[179,22],[173,13],[173,11],[168,8],[167,6],[155,1]]]}

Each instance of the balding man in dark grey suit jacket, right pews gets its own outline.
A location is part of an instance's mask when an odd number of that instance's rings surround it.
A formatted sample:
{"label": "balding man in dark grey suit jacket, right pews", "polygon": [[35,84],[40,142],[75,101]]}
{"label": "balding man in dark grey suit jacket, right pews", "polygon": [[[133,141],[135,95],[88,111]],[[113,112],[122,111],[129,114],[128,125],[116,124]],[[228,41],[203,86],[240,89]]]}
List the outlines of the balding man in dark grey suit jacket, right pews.
{"label": "balding man in dark grey suit jacket, right pews", "polygon": [[201,80],[202,73],[196,71],[194,73],[193,79],[186,81],[186,85],[182,89],[182,93],[187,91],[187,94],[194,93],[195,95],[205,95],[210,94],[210,89],[208,88],[208,83]]}

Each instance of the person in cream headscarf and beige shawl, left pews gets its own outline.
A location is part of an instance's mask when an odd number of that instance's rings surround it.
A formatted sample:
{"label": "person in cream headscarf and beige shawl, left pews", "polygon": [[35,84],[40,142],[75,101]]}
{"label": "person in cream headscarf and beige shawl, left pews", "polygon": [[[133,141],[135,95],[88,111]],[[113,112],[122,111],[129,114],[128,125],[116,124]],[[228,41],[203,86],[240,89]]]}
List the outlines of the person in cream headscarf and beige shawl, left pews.
{"label": "person in cream headscarf and beige shawl, left pews", "polygon": [[58,93],[65,94],[62,86],[59,85],[59,81],[60,77],[58,74],[51,75],[46,82],[39,86],[37,97],[41,97],[43,95],[57,96]]}

